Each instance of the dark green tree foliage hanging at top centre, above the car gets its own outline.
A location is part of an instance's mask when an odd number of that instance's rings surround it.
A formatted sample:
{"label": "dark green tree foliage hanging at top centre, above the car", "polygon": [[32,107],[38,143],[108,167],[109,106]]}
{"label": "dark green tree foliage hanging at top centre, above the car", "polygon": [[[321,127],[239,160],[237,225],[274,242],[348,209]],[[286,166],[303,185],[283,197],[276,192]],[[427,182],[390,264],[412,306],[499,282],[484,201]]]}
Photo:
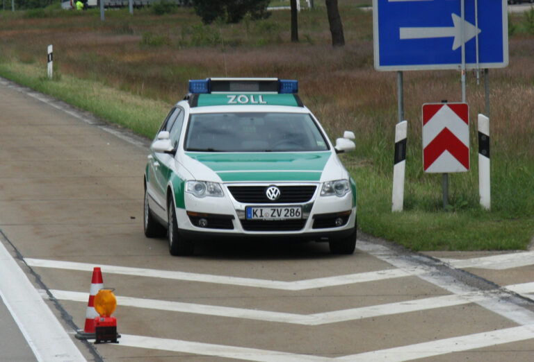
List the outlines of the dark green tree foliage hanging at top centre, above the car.
{"label": "dark green tree foliage hanging at top centre, above the car", "polygon": [[211,24],[222,19],[228,24],[241,21],[250,14],[252,19],[266,19],[270,12],[267,6],[270,0],[195,0],[193,6],[204,24]]}

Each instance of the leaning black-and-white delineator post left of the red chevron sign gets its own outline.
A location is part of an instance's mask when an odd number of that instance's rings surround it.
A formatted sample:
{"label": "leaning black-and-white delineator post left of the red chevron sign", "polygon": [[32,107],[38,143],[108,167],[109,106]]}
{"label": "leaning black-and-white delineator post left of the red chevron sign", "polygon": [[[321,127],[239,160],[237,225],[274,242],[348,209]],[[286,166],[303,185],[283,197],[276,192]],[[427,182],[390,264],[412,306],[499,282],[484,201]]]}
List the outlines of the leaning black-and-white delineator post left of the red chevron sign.
{"label": "leaning black-and-white delineator post left of the red chevron sign", "polygon": [[407,121],[397,123],[395,127],[395,162],[393,168],[393,192],[391,196],[392,212],[403,211],[407,130]]}

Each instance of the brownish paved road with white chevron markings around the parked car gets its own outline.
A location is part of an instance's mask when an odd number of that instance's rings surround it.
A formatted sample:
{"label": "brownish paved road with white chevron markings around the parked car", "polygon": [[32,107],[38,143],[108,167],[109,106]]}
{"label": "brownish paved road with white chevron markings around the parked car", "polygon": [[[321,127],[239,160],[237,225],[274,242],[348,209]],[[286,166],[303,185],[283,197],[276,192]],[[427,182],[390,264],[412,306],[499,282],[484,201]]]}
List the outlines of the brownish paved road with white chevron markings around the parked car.
{"label": "brownish paved road with white chevron markings around the parked car", "polygon": [[[147,140],[1,78],[0,100],[13,361],[28,345],[41,361],[532,360],[534,252],[419,255],[360,236],[350,256],[213,241],[171,257],[143,234]],[[118,344],[73,338],[94,266],[118,296]]]}

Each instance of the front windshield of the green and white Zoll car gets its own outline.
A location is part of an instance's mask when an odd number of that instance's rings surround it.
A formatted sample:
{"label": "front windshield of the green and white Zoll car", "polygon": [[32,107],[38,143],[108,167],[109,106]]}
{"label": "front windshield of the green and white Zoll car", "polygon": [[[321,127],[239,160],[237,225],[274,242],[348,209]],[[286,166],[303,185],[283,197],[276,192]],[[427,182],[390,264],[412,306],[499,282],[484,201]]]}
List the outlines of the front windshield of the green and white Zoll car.
{"label": "front windshield of the green and white Zoll car", "polygon": [[185,150],[204,152],[289,152],[328,150],[310,114],[192,114]]}

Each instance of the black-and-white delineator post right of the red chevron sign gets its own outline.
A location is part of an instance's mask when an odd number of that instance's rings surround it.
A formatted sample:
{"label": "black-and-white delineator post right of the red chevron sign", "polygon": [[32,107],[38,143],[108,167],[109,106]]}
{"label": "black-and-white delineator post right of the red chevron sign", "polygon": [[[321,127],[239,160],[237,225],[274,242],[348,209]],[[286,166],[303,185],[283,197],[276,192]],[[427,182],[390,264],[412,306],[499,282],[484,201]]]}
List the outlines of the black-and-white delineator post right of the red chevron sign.
{"label": "black-and-white delineator post right of the red chevron sign", "polygon": [[487,210],[492,205],[489,171],[489,118],[478,114],[478,192],[480,205]]}

